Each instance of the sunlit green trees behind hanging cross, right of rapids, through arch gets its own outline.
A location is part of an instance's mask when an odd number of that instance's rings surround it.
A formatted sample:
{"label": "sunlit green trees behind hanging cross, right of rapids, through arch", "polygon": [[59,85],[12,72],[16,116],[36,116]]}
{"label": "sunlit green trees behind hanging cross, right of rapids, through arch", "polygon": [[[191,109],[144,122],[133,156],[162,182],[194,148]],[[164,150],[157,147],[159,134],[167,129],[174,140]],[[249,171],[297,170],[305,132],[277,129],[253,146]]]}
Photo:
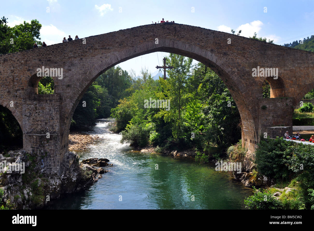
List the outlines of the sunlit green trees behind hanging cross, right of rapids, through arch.
{"label": "sunlit green trees behind hanging cross, right of rapids, through arch", "polygon": [[[166,64],[174,68],[167,71],[167,80],[152,80],[149,74],[145,81],[139,78],[141,87],[111,109],[114,130],[125,129],[122,142],[133,146],[151,142],[179,150],[196,147],[206,153],[213,146],[225,148],[240,139],[240,115],[225,84],[202,63],[195,67],[191,63],[190,58],[170,54]],[[169,100],[170,107],[144,107],[144,100],[150,98]]]}

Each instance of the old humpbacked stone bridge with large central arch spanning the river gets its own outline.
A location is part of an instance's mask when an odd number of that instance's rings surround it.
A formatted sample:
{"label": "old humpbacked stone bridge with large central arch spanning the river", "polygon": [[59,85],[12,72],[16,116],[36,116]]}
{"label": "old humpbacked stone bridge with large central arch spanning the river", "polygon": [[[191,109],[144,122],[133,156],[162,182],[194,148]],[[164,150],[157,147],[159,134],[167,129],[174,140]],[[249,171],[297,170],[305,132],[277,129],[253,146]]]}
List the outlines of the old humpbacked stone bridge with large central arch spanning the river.
{"label": "old humpbacked stone bridge with large central arch spanning the river", "polygon": [[[19,122],[24,150],[42,155],[45,168],[56,172],[68,151],[73,112],[89,85],[118,63],[157,51],[193,58],[220,76],[241,115],[242,145],[251,151],[264,132],[292,132],[293,108],[314,88],[312,52],[182,24],[143,25],[0,55],[0,104]],[[62,79],[52,77],[53,95],[38,94],[42,66],[62,68]],[[257,67],[278,68],[278,79],[253,77]],[[262,96],[265,79],[268,99]]]}

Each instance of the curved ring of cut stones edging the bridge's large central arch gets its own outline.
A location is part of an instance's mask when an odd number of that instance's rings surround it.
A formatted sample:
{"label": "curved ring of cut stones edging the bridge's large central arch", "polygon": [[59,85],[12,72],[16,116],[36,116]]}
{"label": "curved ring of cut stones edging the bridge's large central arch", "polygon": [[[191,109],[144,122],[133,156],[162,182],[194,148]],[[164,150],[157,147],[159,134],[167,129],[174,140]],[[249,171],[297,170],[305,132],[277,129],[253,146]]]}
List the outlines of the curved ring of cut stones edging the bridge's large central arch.
{"label": "curved ring of cut stones edging the bridge's large central arch", "polygon": [[[139,44],[136,47],[116,52],[115,55],[112,55],[105,60],[95,60],[86,74],[87,78],[82,79],[82,81],[80,81],[79,83],[80,85],[78,86],[77,91],[73,92],[73,96],[74,98],[76,98],[76,100],[75,102],[73,102],[73,106],[70,109],[69,113],[67,113],[67,115],[64,115],[65,126],[63,127],[64,130],[62,140],[65,137],[68,137],[71,119],[73,117],[73,113],[76,107],[78,106],[79,101],[83,97],[84,93],[87,91],[88,87],[96,80],[96,78],[100,74],[104,73],[111,67],[127,61],[131,58],[153,52],[169,52],[183,55],[189,58],[193,58],[198,62],[205,64],[210,69],[214,70],[225,83],[231,93],[231,96],[236,102],[242,121],[242,139],[243,135],[246,135],[246,137],[251,137],[251,139],[253,138],[255,140],[258,140],[259,137],[257,135],[257,126],[255,125],[257,121],[253,119],[251,112],[248,110],[248,108],[250,107],[248,106],[248,102],[245,101],[244,93],[242,93],[243,91],[241,91],[243,89],[240,89],[238,87],[240,83],[234,80],[237,78],[237,76],[236,73],[234,73],[233,71],[234,69],[229,64],[230,60],[228,60],[227,57],[226,59],[218,58],[211,52],[200,49],[191,44],[182,43],[181,41],[172,41],[171,44],[169,42],[166,43],[168,44],[163,46],[159,45],[158,47],[156,47],[156,45],[153,45],[152,42],[143,43]],[[64,143],[68,143],[68,140],[64,141]]]}

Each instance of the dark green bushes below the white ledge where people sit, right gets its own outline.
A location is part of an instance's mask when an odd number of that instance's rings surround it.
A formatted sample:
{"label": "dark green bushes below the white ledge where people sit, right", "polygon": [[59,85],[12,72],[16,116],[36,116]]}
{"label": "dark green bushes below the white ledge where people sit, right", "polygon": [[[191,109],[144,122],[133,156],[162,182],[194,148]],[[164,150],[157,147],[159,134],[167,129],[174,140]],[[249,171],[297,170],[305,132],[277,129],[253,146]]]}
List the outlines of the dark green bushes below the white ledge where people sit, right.
{"label": "dark green bushes below the white ledge where people sit, right", "polygon": [[314,146],[287,142],[282,138],[262,139],[255,154],[259,174],[276,181],[296,178],[306,208],[313,205],[309,192],[314,189]]}

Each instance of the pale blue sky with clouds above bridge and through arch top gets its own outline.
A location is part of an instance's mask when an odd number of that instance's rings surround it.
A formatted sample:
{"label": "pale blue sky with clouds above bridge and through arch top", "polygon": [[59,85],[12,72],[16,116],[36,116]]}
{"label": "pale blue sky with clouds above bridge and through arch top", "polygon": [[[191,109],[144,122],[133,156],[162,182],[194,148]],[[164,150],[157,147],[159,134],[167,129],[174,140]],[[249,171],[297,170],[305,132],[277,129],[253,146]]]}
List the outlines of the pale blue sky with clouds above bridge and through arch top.
{"label": "pale blue sky with clouds above bridge and through arch top", "polygon": [[[49,7],[49,12],[47,12]],[[265,11],[267,7],[267,12]],[[194,12],[192,12],[194,9]],[[41,41],[47,45],[62,42],[68,35],[84,38],[126,29],[152,21],[165,20],[230,33],[242,30],[241,36],[257,36],[284,43],[314,35],[314,1],[1,1],[0,16],[14,26],[37,19]],[[151,53],[119,65],[139,74],[142,67],[155,72],[167,53]]]}

